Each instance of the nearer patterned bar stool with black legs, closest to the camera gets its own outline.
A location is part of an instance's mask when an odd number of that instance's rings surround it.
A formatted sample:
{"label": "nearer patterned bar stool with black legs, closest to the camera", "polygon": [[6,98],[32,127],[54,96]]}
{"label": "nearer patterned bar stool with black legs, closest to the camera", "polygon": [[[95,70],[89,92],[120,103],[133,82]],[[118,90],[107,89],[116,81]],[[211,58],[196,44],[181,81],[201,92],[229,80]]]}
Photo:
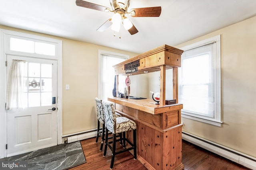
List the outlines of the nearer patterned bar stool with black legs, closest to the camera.
{"label": "nearer patterned bar stool with black legs, closest to the camera", "polygon": [[[105,141],[105,148],[104,148],[104,154],[103,156],[106,156],[107,152],[107,147],[110,148],[112,151],[112,158],[111,158],[111,163],[110,163],[110,169],[113,168],[114,166],[114,159],[116,154],[120,154],[123,152],[126,152],[128,150],[133,150],[134,151],[134,159],[137,159],[137,154],[136,154],[136,123],[132,121],[131,119],[128,119],[126,117],[116,117],[115,114],[115,108],[114,104],[112,102],[102,102],[103,104],[103,109],[105,113],[105,127],[106,131],[112,132],[113,135],[113,140],[108,141],[108,138],[106,138]],[[125,132],[133,130],[133,144],[126,139],[125,137]],[[123,133],[123,138],[116,139],[118,133]],[[120,150],[116,152],[116,142],[117,141],[122,141],[124,144],[124,150]],[[131,147],[125,148],[125,142],[128,142]],[[112,146],[110,145],[112,143]]]}

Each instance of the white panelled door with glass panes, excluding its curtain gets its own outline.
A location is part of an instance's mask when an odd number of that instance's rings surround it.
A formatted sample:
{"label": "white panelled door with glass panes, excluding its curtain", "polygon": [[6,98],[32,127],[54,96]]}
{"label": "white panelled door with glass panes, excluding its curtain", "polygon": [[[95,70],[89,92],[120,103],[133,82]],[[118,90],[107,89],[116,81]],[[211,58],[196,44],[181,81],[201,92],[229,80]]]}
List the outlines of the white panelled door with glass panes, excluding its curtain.
{"label": "white panelled door with glass panes, excluding its curtain", "polygon": [[7,55],[7,78],[12,59],[26,61],[26,85],[23,109],[7,110],[7,157],[57,145],[57,61]]}

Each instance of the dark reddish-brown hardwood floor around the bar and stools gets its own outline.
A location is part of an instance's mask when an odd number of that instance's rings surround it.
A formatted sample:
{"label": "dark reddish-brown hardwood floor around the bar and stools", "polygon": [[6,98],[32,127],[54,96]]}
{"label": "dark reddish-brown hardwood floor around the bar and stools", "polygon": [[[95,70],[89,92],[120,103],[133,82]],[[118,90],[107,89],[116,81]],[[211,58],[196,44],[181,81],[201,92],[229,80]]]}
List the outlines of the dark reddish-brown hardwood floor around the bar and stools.
{"label": "dark reddish-brown hardwood floor around the bar and stools", "polygon": [[[103,151],[100,152],[100,139],[98,143],[95,143],[95,141],[95,137],[81,141],[86,163],[70,170],[110,169],[110,149],[108,149],[106,157],[103,157]],[[182,163],[185,166],[185,170],[248,170],[244,166],[240,166],[186,141],[182,141]],[[146,170],[146,168],[138,160],[134,160],[130,152],[124,152],[115,156],[113,170]]]}

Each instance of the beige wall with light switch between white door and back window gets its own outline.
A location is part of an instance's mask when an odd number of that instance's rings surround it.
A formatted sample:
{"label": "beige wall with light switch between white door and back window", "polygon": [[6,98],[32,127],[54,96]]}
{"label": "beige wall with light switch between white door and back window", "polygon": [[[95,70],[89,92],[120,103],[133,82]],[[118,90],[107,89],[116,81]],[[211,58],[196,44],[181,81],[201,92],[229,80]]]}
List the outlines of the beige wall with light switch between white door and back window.
{"label": "beige wall with light switch between white door and back window", "polygon": [[[98,50],[138,55],[3,25],[0,28],[62,40],[62,135],[97,127],[94,98],[98,97]],[[65,84],[70,85],[70,90],[65,90]]]}

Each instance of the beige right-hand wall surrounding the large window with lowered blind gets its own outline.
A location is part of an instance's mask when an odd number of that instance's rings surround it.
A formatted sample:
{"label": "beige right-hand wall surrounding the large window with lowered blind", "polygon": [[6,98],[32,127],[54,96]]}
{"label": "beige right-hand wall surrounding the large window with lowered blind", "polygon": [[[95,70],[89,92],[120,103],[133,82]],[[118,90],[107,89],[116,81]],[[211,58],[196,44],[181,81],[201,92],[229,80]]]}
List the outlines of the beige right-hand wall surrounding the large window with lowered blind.
{"label": "beige right-hand wall surrounding the large window with lowered blind", "polygon": [[256,158],[256,17],[182,43],[221,35],[222,127],[182,119],[183,131]]}

